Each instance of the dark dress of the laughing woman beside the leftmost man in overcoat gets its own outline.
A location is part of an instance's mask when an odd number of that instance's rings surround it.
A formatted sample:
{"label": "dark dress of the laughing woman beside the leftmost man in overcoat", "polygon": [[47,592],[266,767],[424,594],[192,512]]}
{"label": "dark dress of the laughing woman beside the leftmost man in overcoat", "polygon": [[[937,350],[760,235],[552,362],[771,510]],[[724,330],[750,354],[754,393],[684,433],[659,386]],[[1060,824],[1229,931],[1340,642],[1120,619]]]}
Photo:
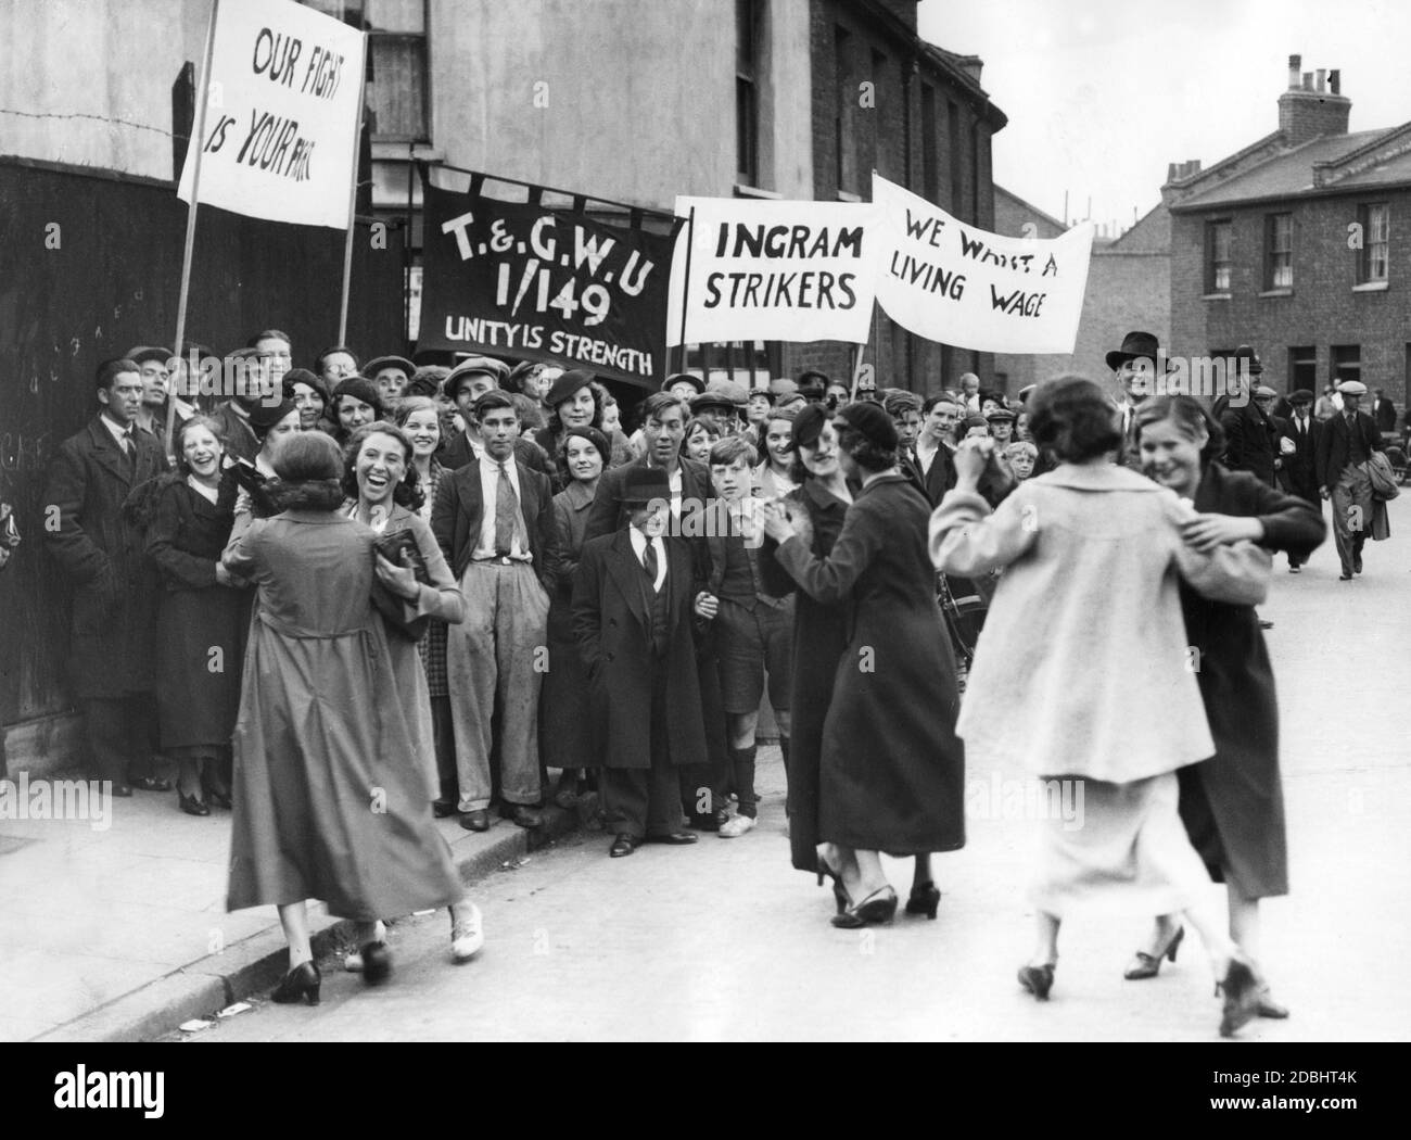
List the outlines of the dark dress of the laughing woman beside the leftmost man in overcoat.
{"label": "dark dress of the laughing woman beside the leftmost man in overcoat", "polygon": [[240,707],[248,591],[220,586],[216,564],[234,518],[171,478],[157,492],[147,553],[157,563],[157,714],[168,755],[230,748]]}

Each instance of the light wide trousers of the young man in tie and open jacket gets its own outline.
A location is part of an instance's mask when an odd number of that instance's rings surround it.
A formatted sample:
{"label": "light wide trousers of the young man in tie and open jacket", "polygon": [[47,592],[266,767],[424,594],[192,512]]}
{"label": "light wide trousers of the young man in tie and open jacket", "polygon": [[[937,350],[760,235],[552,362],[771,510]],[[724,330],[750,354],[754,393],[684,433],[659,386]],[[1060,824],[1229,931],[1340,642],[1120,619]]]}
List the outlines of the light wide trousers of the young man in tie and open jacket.
{"label": "light wide trousers of the young man in tie and open jacket", "polygon": [[466,621],[446,629],[446,686],[456,735],[460,811],[490,807],[491,725],[499,718],[501,799],[536,804],[539,684],[549,595],[526,562],[473,562],[460,580]]}

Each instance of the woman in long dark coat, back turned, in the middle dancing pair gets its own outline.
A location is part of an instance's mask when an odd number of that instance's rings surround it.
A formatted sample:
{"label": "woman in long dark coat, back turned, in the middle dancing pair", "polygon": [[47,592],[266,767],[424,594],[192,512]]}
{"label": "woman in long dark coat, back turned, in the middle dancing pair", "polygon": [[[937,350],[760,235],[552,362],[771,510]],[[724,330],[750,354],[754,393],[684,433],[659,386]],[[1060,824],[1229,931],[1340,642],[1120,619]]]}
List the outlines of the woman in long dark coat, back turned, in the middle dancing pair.
{"label": "woman in long dark coat, back turned, in the middle dancing pair", "polygon": [[[851,900],[834,924],[856,927],[896,913],[879,852],[919,856],[920,879],[923,856],[965,845],[965,752],[927,552],[930,504],[897,468],[900,440],[880,406],[852,404],[837,426],[844,474],[862,485],[832,553],[814,557],[777,505],[766,508],[765,525],[779,542],[775,560],[807,594],[849,607],[824,722],[818,832],[838,847]],[[934,914],[934,899],[926,906]]]}

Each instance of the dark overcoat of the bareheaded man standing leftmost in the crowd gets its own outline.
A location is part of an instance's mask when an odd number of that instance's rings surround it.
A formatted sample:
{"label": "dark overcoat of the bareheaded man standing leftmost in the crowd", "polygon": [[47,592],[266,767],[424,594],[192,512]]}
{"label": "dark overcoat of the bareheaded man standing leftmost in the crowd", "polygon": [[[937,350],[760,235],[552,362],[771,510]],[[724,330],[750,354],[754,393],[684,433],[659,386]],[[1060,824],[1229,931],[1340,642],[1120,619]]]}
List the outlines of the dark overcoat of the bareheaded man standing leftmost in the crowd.
{"label": "dark overcoat of the bareheaded man standing leftmost in the crowd", "polygon": [[45,545],[73,584],[69,676],[76,700],[151,691],[157,583],[143,530],[123,512],[131,490],[166,466],[161,444],[133,432],[135,464],[100,416],[59,444],[44,504]]}

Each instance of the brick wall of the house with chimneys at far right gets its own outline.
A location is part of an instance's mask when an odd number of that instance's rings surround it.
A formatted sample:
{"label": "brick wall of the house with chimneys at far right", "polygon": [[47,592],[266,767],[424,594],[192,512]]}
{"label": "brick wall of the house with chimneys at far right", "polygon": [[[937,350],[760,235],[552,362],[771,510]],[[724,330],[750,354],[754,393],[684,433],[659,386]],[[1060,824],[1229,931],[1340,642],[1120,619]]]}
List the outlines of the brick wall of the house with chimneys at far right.
{"label": "brick wall of the house with chimneys at far right", "polygon": [[[1348,248],[1348,226],[1357,220],[1362,202],[1391,206],[1388,288],[1355,292],[1356,250]],[[1264,216],[1294,214],[1294,291],[1266,296],[1263,291]],[[1205,223],[1233,222],[1230,296],[1205,301]],[[1171,343],[1173,353],[1208,354],[1252,344],[1264,364],[1263,381],[1276,391],[1290,389],[1290,348],[1315,346],[1318,384],[1332,377],[1332,346],[1362,348],[1362,380],[1384,388],[1398,409],[1407,402],[1411,354],[1411,257],[1404,220],[1411,217],[1411,190],[1329,196],[1280,206],[1242,206],[1233,210],[1177,213],[1171,224]]]}

